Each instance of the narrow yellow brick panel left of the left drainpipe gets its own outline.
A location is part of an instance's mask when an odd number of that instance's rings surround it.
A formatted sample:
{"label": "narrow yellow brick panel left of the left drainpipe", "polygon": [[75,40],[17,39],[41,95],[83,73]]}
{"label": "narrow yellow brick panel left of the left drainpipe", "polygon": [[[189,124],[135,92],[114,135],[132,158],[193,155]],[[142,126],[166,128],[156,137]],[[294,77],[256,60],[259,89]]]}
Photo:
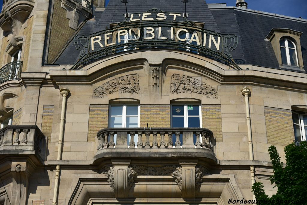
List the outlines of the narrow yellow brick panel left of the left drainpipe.
{"label": "narrow yellow brick panel left of the left drainpipe", "polygon": [[41,121],[41,131],[49,140],[51,140],[53,110],[54,105],[44,105],[43,118]]}

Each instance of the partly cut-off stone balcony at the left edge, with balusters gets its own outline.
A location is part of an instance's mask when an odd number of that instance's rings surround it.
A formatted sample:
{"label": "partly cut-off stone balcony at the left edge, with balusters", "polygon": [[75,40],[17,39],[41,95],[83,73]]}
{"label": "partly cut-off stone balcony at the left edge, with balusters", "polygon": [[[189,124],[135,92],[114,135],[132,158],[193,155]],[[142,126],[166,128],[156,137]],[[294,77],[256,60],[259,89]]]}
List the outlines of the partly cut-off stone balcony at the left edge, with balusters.
{"label": "partly cut-off stone balcony at the left edge, with balusters", "polygon": [[36,125],[9,125],[0,130],[0,158],[12,155],[36,155],[46,158],[48,138]]}

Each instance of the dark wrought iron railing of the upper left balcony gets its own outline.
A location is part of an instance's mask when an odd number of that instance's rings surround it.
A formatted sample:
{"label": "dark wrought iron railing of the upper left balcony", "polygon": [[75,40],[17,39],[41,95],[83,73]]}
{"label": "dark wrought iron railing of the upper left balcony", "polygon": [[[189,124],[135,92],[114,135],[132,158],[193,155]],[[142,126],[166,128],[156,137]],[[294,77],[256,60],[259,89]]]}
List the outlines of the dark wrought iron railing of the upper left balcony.
{"label": "dark wrought iron railing of the upper left balcony", "polygon": [[0,83],[3,83],[8,80],[19,80],[22,70],[22,64],[23,62],[18,60],[3,66],[0,70]]}

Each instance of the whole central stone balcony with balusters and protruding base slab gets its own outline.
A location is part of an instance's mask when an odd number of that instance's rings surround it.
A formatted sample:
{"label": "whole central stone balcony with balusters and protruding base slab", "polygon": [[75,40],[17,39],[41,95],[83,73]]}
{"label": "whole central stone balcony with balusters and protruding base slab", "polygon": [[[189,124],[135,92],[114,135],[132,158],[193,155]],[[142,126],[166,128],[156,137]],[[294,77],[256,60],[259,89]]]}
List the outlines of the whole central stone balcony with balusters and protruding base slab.
{"label": "whole central stone balcony with balusters and protruding base slab", "polygon": [[97,138],[95,160],[102,157],[201,157],[217,161],[213,133],[205,128],[106,128],[97,133]]}

